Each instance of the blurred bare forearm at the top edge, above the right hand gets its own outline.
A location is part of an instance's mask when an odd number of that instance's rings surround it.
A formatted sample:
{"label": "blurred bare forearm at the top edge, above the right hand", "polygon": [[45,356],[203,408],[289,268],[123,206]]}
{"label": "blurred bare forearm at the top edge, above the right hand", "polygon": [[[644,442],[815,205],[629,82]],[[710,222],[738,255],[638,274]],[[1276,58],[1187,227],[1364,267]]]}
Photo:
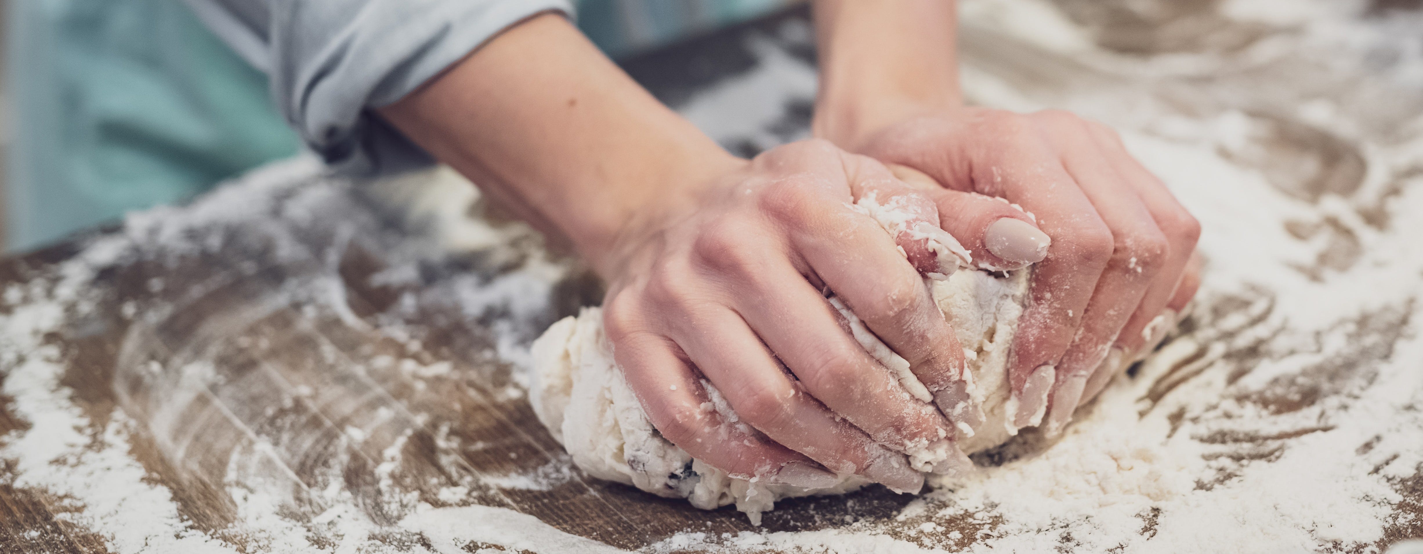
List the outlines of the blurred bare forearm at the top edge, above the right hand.
{"label": "blurred bare forearm at the top edge, above the right hand", "polygon": [[855,151],[877,131],[962,104],[953,0],[815,0],[814,132]]}

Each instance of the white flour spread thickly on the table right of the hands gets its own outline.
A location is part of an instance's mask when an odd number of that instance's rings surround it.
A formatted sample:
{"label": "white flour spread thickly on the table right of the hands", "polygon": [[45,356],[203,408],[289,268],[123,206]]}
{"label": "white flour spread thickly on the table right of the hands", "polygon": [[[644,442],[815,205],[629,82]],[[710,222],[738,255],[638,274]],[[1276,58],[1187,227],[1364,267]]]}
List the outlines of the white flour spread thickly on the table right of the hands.
{"label": "white flour spread thickly on the table right of the hands", "polygon": [[[1030,13],[1020,14],[1017,7],[1030,7]],[[966,13],[992,13],[995,18],[970,24],[1000,23],[995,28],[1020,40],[1062,51],[1090,50],[1081,30],[1043,7],[980,1],[966,3]],[[1340,36],[1358,40],[1365,33],[1358,27],[1340,28],[1348,26],[1342,21],[1352,20],[1353,16],[1342,13],[1350,9],[1333,4],[1325,9],[1329,16],[1296,21],[1326,27],[1322,34],[1329,37],[1328,48],[1338,45]],[[1022,27],[1043,17],[1050,20],[1047,27]],[[1110,55],[1087,58],[1100,67],[1120,67],[1120,60]],[[1417,65],[1405,68],[1413,67]],[[1141,119],[1130,116],[1140,114],[1123,111],[1111,97],[1093,97],[1060,82],[1050,87],[1073,89],[1081,97],[1052,97],[1043,89],[1033,91],[1035,97],[990,70],[965,68],[970,98],[989,105],[1007,101],[1015,109],[1070,105],[1126,126],[1128,149],[1202,220],[1201,250],[1208,263],[1197,305],[1242,305],[1215,308],[1220,314],[1197,311],[1197,322],[1207,325],[1205,330],[1177,338],[1148,358],[1133,379],[1118,379],[1099,402],[1079,411],[1077,420],[1056,445],[1040,452],[1026,447],[1030,455],[1025,457],[1009,450],[1005,456],[1009,462],[983,472],[979,482],[939,483],[936,491],[899,514],[904,526],[730,537],[687,533],[659,548],[936,551],[933,545],[943,544],[951,551],[985,553],[1063,548],[1295,553],[1377,541],[1383,526],[1396,523],[1390,506],[1400,496],[1393,483],[1419,472],[1417,452],[1423,446],[1416,408],[1423,402],[1423,375],[1416,371],[1423,362],[1423,347],[1412,338],[1412,331],[1399,338],[1368,338],[1377,337],[1387,325],[1405,325],[1407,314],[1414,313],[1410,298],[1419,294],[1416,276],[1423,268],[1419,259],[1423,250],[1413,239],[1419,223],[1406,214],[1423,209],[1413,203],[1423,200],[1417,178],[1389,193],[1393,196],[1385,212],[1395,216],[1387,217],[1387,227],[1366,222],[1360,213],[1375,202],[1370,195],[1385,193],[1392,179],[1387,169],[1377,168],[1420,159],[1417,112],[1409,112],[1412,124],[1405,126],[1413,131],[1407,138],[1369,146],[1368,159],[1376,169],[1363,176],[1359,193],[1325,195],[1311,205],[1281,193],[1271,183],[1276,178],[1261,168],[1228,158],[1261,125],[1255,115],[1225,109],[1188,121],[1151,108],[1157,111],[1147,115],[1144,125],[1150,132],[1133,131],[1141,128]],[[1328,129],[1353,125],[1342,119],[1339,109],[1319,109],[1321,101],[1312,102],[1299,104],[1315,107],[1309,116],[1316,118],[1316,125]],[[1167,131],[1163,121],[1173,128]],[[1222,125],[1227,122],[1234,125]],[[1335,222],[1323,224],[1346,230],[1299,237],[1301,226],[1291,226],[1292,220]],[[1362,251],[1358,260],[1345,266],[1325,257],[1338,251],[1340,241],[1353,240]],[[1322,261],[1329,268],[1312,270]],[[1252,344],[1265,345],[1264,357],[1242,357],[1255,348]],[[1245,361],[1235,361],[1237,357]],[[1340,395],[1328,396],[1322,405],[1295,411],[1257,403],[1284,402],[1288,396],[1275,399],[1274,391],[1321,379],[1322,374],[1309,374],[1311,368],[1349,366],[1362,368],[1362,375],[1325,382],[1325,389],[1336,386]],[[1318,389],[1303,391],[1298,393]],[[1040,440],[1029,439],[1025,446]],[[1382,443],[1392,447],[1380,452]],[[962,517],[982,521],[978,537],[909,527]]]}

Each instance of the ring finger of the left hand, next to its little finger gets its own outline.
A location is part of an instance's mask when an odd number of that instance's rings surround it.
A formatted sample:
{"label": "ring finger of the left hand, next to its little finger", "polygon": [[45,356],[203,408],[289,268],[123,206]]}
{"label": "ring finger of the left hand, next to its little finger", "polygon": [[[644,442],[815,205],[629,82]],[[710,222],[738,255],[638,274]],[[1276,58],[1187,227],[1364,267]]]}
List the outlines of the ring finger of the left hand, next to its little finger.
{"label": "ring finger of the left hand, next to its little finger", "polygon": [[[858,473],[894,491],[918,491],[924,474],[904,455],[877,445],[850,420],[811,398],[776,362],[746,321],[729,308],[694,313],[676,341],[741,420],[837,474]],[[716,395],[713,393],[716,403]]]}

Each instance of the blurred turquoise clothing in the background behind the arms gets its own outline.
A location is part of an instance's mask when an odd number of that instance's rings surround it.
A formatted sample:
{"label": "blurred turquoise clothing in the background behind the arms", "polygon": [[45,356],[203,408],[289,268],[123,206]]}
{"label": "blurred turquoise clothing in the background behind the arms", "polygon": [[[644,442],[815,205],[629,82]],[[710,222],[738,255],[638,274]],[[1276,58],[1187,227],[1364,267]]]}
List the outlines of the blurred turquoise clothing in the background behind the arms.
{"label": "blurred turquoise clothing in the background behind the arms", "polygon": [[[266,77],[184,1],[0,0],[0,244],[26,251],[299,152]],[[793,0],[578,0],[615,60]],[[11,116],[13,115],[13,116]],[[10,129],[26,129],[13,143]]]}

